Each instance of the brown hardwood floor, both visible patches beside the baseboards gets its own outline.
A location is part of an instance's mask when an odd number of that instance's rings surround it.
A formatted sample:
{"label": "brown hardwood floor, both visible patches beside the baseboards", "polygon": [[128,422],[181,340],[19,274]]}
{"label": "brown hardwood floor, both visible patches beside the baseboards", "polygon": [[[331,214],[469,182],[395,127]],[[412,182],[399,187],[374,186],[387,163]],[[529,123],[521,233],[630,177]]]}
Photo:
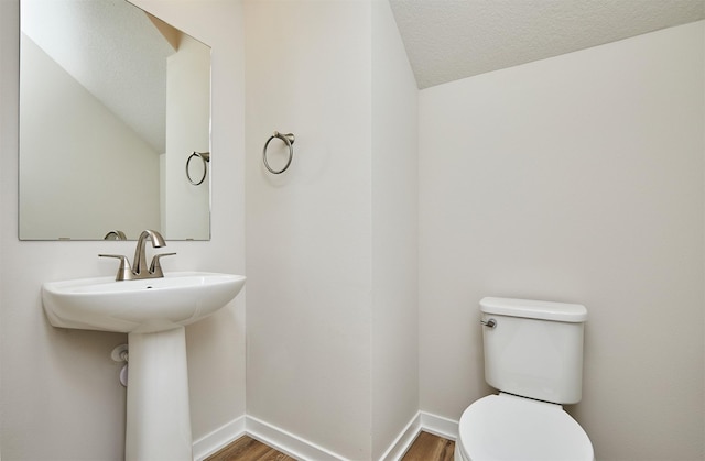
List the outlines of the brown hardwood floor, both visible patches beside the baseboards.
{"label": "brown hardwood floor, both visible patches beside the baseboards", "polygon": [[[455,442],[421,432],[401,461],[453,461]],[[296,461],[248,436],[242,436],[204,461]]]}

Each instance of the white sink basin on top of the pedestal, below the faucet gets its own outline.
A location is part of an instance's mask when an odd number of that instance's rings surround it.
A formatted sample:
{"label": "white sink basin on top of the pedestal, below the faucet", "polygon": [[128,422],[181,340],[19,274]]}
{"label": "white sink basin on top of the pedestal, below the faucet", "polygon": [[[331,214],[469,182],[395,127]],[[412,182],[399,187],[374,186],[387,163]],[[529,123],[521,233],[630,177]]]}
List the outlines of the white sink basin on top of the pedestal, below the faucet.
{"label": "white sink basin on top of the pedestal, below the faucet", "polygon": [[42,301],[54,327],[149,333],[184,327],[214,314],[237,296],[245,278],[173,272],[140,281],[48,282],[42,285]]}

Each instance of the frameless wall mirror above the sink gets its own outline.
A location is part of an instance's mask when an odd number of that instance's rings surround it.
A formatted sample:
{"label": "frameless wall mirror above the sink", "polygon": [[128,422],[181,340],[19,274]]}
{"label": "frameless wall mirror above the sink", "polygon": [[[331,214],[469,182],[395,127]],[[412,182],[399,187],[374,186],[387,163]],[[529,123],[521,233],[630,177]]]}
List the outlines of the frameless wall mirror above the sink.
{"label": "frameless wall mirror above the sink", "polygon": [[208,240],[210,47],[126,0],[20,18],[20,240]]}

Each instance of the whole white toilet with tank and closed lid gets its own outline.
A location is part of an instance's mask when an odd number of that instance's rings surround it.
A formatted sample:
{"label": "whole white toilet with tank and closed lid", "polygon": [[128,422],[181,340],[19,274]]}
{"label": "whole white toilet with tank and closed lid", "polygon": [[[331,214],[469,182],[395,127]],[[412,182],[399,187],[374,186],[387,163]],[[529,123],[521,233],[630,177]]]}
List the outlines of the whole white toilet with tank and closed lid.
{"label": "whole white toilet with tank and closed lid", "polygon": [[563,410],[581,400],[583,328],[576,304],[484,298],[485,380],[499,389],[460,417],[455,461],[594,461]]}

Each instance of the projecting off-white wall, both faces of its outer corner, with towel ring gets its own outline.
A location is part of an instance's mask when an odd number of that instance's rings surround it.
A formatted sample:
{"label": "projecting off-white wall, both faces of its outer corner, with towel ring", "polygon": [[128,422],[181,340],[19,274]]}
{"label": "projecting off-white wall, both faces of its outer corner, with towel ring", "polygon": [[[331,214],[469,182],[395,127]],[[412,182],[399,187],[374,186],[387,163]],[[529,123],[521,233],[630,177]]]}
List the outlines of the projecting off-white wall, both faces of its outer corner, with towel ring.
{"label": "projecting off-white wall, both faces of its outer corner, with towel ring", "polygon": [[245,10],[248,414],[372,459],[417,409],[415,86],[387,2]]}

